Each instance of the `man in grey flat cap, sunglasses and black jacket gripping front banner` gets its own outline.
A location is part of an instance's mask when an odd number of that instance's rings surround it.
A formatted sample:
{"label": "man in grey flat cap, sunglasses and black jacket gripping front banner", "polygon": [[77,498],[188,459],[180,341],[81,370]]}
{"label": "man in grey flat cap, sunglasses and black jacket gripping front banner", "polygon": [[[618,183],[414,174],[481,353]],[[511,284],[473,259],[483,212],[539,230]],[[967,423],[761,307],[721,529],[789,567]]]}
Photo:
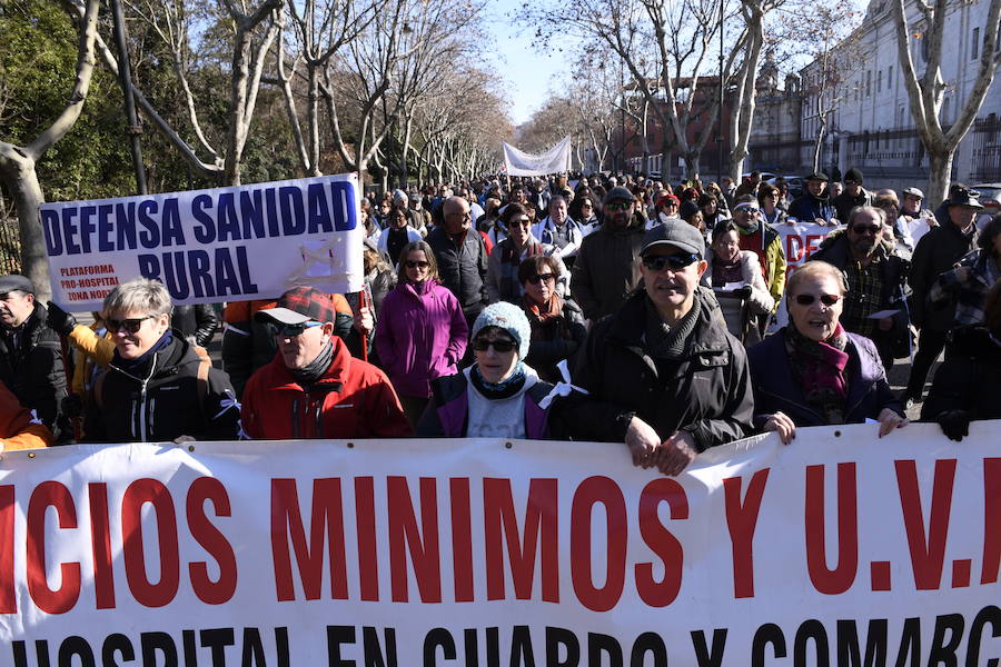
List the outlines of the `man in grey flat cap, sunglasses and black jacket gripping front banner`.
{"label": "man in grey flat cap, sunglasses and black jacket gripping front banner", "polygon": [[[589,238],[589,237],[588,237]],[[645,232],[644,289],[598,322],[578,352],[568,399],[574,437],[625,442],[633,465],[678,475],[700,451],[751,431],[747,356],[723,322],[705,241],[685,222]]]}

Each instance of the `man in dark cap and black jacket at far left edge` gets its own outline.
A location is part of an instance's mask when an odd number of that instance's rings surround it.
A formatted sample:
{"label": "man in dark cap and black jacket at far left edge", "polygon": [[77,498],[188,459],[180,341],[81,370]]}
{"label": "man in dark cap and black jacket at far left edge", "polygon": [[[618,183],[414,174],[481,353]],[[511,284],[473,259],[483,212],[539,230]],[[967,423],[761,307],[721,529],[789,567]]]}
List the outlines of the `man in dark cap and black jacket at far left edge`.
{"label": "man in dark cap and black jacket at far left edge", "polygon": [[46,326],[46,317],[31,280],[0,277],[0,380],[62,440],[70,435],[57,424],[66,374],[59,335]]}

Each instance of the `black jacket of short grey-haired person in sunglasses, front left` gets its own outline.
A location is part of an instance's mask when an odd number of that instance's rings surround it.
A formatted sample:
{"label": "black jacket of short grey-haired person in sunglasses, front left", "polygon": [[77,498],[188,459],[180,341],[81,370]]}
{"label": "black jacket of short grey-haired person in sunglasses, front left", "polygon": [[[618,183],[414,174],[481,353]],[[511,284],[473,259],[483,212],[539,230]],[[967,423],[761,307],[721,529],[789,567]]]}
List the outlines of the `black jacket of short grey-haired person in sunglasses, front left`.
{"label": "black jacket of short grey-haired person in sunglasses, front left", "polygon": [[95,381],[85,422],[91,442],[166,442],[178,436],[234,440],[239,435],[239,405],[229,376],[208,369],[199,388],[202,358],[178,331],[153,352],[149,364],[122,370],[117,354]]}

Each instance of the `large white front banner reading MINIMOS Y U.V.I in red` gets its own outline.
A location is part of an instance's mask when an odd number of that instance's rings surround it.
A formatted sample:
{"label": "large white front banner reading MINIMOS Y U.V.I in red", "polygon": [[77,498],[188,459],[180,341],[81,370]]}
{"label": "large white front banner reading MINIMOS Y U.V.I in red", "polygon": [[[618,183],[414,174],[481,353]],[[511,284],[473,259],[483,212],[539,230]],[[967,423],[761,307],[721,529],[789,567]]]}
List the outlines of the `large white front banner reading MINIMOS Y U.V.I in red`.
{"label": "large white front banner reading MINIMOS Y U.V.I in red", "polygon": [[0,665],[995,664],[1001,421],[876,429],[4,454]]}

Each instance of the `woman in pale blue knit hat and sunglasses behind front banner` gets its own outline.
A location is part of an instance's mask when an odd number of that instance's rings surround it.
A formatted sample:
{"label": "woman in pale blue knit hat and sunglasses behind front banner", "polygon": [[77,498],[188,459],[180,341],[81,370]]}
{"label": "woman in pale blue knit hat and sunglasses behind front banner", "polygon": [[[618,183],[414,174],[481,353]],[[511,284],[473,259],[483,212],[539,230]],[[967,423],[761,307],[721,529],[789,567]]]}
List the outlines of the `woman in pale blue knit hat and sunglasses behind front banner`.
{"label": "woman in pale blue knit hat and sunglasses behind front banner", "polygon": [[475,364],[432,382],[417,436],[548,439],[553,385],[523,361],[531,337],[528,320],[514,303],[484,308],[469,341]]}

